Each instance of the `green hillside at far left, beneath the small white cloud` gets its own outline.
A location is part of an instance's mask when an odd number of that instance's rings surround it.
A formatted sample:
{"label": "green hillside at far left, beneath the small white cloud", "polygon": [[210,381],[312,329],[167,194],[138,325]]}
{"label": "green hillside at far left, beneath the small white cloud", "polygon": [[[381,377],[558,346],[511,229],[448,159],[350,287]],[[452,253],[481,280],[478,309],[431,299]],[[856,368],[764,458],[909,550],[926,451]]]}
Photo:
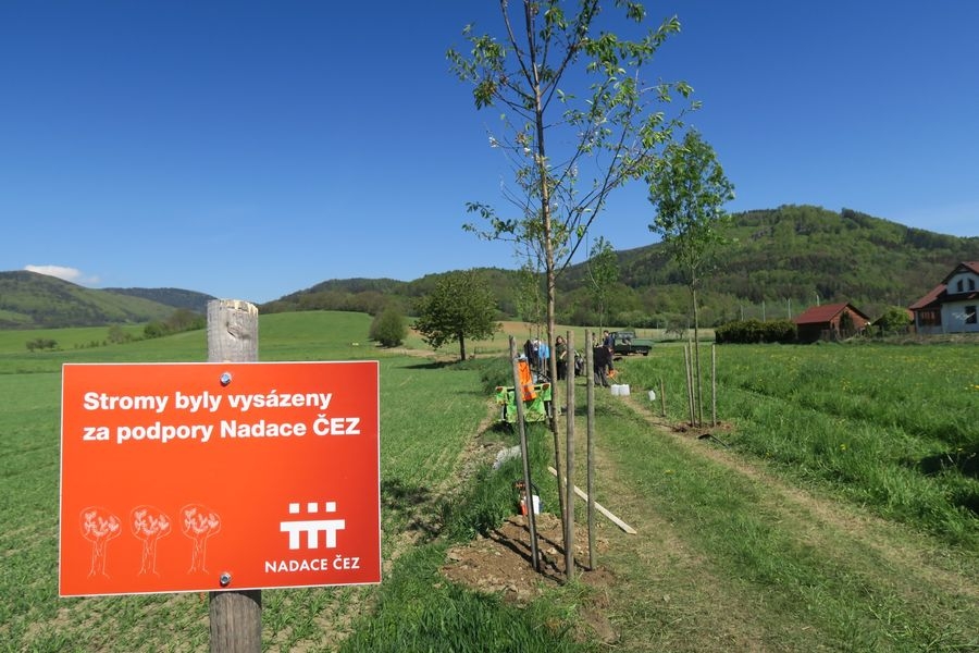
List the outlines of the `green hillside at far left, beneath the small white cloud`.
{"label": "green hillside at far left, beneath the small white cloud", "polygon": [[173,306],[85,288],[36,272],[0,272],[0,329],[98,326],[165,320]]}

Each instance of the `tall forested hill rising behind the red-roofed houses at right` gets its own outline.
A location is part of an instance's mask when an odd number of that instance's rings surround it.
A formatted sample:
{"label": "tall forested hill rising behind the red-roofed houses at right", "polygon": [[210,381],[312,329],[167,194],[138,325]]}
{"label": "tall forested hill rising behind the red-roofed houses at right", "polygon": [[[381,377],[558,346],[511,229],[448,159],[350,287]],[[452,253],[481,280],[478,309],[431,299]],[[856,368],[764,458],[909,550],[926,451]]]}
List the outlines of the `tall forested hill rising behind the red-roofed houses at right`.
{"label": "tall forested hill rising behind the red-roofed houses at right", "polygon": [[[715,311],[763,301],[852,301],[872,315],[913,304],[956,264],[979,259],[979,237],[938,234],[850,209],[784,206],[736,213],[733,222],[733,242],[704,283],[705,301]],[[682,283],[660,246],[619,252],[619,266],[622,283],[639,293]]]}

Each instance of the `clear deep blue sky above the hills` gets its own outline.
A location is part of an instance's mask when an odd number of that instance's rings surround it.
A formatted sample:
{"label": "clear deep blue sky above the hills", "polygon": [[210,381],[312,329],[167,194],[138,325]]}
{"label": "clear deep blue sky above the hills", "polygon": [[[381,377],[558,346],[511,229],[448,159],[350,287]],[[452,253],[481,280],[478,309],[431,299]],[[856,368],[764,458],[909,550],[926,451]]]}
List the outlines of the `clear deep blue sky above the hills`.
{"label": "clear deep blue sky above the hills", "polygon": [[[511,0],[511,4],[515,3]],[[979,236],[979,2],[669,0],[730,211],[810,204]],[[0,2],[0,270],[256,303],[478,266],[508,168],[448,71],[492,0]],[[596,223],[654,242],[644,188]]]}

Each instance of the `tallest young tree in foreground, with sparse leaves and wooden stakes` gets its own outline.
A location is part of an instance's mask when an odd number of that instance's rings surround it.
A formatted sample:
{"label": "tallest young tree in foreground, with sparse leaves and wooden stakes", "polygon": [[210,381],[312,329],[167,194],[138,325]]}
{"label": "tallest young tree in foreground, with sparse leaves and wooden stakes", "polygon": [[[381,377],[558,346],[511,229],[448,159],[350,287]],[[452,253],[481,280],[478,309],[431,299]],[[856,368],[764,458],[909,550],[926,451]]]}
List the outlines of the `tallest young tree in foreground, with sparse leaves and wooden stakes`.
{"label": "tallest young tree in foreground, with sparse leaves and wooden stakes", "polygon": [[[506,112],[503,134],[491,135],[490,144],[506,153],[516,183],[504,190],[510,204],[507,215],[490,205],[470,202],[469,211],[480,214],[486,226],[466,229],[540,252],[548,342],[555,335],[558,272],[574,256],[609,193],[645,177],[679,124],[679,116],[668,120],[662,111],[648,108],[669,102],[674,93],[689,97],[692,90],[682,82],[647,85],[641,75],[665,39],[680,29],[676,17],[627,40],[606,29],[622,24],[599,22],[599,0],[580,0],[571,15],[566,15],[566,4],[500,0],[501,39],[478,35],[470,25],[463,32],[469,54],[448,51],[453,72],[473,85],[476,109]],[[614,4],[642,26],[642,4],[628,0]],[[549,371],[555,378],[554,356]],[[552,429],[556,428],[555,418]]]}

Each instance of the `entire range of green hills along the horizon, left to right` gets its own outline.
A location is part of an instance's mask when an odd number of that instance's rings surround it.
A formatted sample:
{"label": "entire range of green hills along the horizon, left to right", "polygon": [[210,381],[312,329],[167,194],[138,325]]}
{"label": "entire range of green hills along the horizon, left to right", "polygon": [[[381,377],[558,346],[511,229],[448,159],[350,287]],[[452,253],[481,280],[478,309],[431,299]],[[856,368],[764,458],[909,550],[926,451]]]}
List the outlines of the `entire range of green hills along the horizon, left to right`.
{"label": "entire range of green hills along the horizon, left to right", "polygon": [[[907,307],[962,261],[979,260],[979,237],[908,227],[843,209],[783,206],[732,215],[732,244],[717,261],[699,297],[702,323],[745,316],[745,307],[850,301],[868,316]],[[596,235],[603,234],[597,223]],[[652,239],[652,235],[650,235]],[[606,293],[606,312],[594,308],[587,263],[558,279],[558,321],[567,324],[654,326],[680,323],[689,312],[682,274],[661,244],[617,251],[619,281]],[[376,315],[394,305],[411,315],[414,301],[450,271],[414,281],[329,280],[259,307],[263,313],[350,310]],[[483,269],[500,316],[518,317],[523,287],[515,270]],[[214,297],[179,288],[85,288],[34,272],[0,272],[0,329],[83,326],[165,320],[175,309],[203,313]],[[788,306],[786,306],[788,305]],[[768,317],[777,317],[769,309]]]}

